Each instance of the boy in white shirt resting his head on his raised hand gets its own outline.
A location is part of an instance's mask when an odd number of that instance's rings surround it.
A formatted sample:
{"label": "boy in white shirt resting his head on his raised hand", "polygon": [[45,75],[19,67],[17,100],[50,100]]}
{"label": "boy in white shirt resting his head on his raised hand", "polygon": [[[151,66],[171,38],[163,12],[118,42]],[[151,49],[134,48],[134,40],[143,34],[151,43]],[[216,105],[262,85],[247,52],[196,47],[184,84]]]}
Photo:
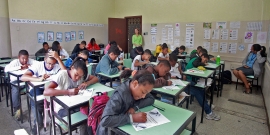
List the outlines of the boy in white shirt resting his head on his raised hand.
{"label": "boy in white shirt resting his head on his raised hand", "polygon": [[[57,64],[57,62],[59,64]],[[62,69],[65,70],[65,66],[62,63],[62,60],[58,56],[56,52],[50,52],[49,54],[47,53],[45,56],[44,61],[36,62],[33,64],[28,71],[26,71],[23,76],[21,77],[21,80],[26,82],[26,81],[32,81],[32,82],[41,82],[43,80],[46,80],[49,78],[51,75],[55,75],[58,73],[58,71]],[[43,95],[44,88],[36,88],[36,95]],[[34,90],[30,90],[30,95],[34,96]],[[37,134],[37,125],[36,125],[36,112],[35,112],[35,104],[31,100],[31,110],[32,113],[34,114],[34,127],[32,129],[32,134],[36,135]],[[38,109],[38,125],[41,127],[43,123],[43,103],[39,105]]]}

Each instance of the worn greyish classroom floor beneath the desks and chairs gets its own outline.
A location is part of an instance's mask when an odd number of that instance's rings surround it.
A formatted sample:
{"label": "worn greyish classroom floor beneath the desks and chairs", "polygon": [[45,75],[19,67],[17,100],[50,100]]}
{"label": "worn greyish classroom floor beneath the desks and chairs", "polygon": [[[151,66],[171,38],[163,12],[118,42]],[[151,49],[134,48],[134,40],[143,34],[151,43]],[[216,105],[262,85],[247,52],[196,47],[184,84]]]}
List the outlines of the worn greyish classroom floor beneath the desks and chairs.
{"label": "worn greyish classroom floor beneath the desks and chairs", "polygon": [[[243,94],[242,90],[241,86],[235,90],[235,84],[224,85],[222,97],[217,98],[215,94],[214,112],[221,116],[220,121],[204,118],[204,123],[200,123],[201,107],[195,99],[195,102],[190,105],[190,110],[197,112],[196,133],[199,135],[268,135],[261,92],[254,90],[253,94]],[[14,130],[20,128],[30,132],[25,96],[22,96],[22,103],[25,114],[23,124],[11,117],[10,108],[6,107],[5,98],[2,98],[2,102],[0,102],[1,135],[11,135]],[[190,127],[191,125],[189,125]],[[44,132],[42,129],[41,134],[48,135],[49,131]],[[76,133],[74,132],[74,134]]]}

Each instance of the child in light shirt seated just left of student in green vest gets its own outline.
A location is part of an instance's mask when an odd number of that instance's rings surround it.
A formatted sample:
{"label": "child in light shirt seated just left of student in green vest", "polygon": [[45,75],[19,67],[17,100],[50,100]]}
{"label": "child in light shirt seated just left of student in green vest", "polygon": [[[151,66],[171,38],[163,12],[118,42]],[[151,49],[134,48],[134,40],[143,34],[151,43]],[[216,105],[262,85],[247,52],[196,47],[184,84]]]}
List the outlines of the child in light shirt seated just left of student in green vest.
{"label": "child in light shirt seated just left of student in green vest", "polygon": [[169,62],[171,64],[171,70],[170,70],[171,78],[181,79],[182,78],[181,75],[183,74],[183,71],[181,70],[181,65],[179,65],[177,62],[177,56],[174,54],[170,54]]}

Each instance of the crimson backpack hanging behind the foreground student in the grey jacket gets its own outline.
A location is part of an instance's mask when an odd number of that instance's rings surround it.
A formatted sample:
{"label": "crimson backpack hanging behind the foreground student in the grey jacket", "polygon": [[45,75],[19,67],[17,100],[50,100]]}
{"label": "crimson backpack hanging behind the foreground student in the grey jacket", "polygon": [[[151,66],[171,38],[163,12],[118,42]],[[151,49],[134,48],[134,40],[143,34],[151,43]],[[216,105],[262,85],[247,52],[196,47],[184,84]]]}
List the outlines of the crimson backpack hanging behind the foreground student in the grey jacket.
{"label": "crimson backpack hanging behind the foreground student in the grey jacket", "polygon": [[[87,125],[88,125],[88,134],[91,132],[91,134],[95,135],[97,127],[101,121],[103,110],[109,101],[109,96],[106,92],[101,93],[97,92],[97,96],[94,96],[92,106],[89,110],[89,115],[87,119]],[[89,131],[90,130],[90,131]]]}

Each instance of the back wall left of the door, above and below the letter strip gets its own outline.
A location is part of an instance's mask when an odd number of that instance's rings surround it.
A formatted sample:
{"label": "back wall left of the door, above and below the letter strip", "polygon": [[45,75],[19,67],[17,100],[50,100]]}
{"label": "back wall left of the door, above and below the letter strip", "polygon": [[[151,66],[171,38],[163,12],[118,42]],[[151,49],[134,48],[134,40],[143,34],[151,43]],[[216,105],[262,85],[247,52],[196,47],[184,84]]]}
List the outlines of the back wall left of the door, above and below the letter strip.
{"label": "back wall left of the door, above and below the letter strip", "polygon": [[[114,16],[114,1],[107,0],[10,0],[9,17],[17,19],[51,20],[67,22],[84,22],[104,24],[103,27],[72,26],[72,25],[47,25],[47,24],[24,24],[10,23],[12,56],[16,56],[21,49],[27,49],[33,55],[42,47],[37,42],[37,32],[47,31],[65,32],[79,30],[84,31],[84,40],[88,43],[94,37],[97,43],[108,42],[108,17]],[[64,40],[64,38],[63,38]],[[62,42],[61,45],[68,52],[73,50],[76,43],[82,40],[78,38],[70,42]],[[52,42],[49,42],[51,45]]]}

